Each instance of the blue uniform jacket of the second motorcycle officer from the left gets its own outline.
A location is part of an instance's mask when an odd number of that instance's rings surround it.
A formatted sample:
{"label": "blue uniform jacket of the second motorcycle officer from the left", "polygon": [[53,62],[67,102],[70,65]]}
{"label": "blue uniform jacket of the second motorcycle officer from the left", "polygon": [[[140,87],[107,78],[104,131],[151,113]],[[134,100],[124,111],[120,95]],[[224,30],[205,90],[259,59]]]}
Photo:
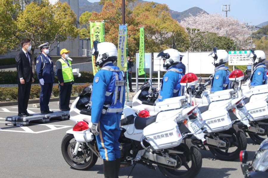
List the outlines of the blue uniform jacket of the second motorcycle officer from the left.
{"label": "blue uniform jacket of the second motorcycle officer from the left", "polygon": [[[175,65],[171,66],[170,69],[178,69]],[[182,72],[182,69],[178,69]],[[160,89],[160,94],[158,96],[159,101],[163,101],[164,99],[167,98],[172,98],[172,97],[177,97],[179,96],[180,92],[180,79],[182,78],[182,73],[177,73],[174,71],[167,71],[165,75],[163,76],[163,79],[161,81],[161,89]],[[174,92],[175,90],[178,90]]]}

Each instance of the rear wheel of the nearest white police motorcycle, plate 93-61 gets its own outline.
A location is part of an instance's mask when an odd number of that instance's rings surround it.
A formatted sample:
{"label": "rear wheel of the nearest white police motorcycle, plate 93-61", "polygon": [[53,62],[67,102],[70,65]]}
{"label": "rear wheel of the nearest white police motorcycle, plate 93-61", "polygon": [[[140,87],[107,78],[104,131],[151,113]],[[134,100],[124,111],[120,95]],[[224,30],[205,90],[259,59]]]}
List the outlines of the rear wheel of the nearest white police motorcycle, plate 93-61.
{"label": "rear wheel of the nearest white police motorcycle, plate 93-61", "polygon": [[190,178],[195,177],[202,167],[202,155],[199,148],[191,139],[183,139],[183,142],[176,148],[183,154],[169,154],[170,157],[177,160],[178,168],[158,165],[160,171],[169,178]]}

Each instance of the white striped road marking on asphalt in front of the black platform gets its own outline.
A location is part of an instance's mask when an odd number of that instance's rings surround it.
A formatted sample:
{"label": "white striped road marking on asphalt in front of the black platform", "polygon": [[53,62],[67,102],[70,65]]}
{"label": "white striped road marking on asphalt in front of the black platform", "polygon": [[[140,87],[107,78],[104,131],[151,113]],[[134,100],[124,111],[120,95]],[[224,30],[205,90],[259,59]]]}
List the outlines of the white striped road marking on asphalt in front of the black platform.
{"label": "white striped road marking on asphalt in front of the black platform", "polygon": [[[5,123],[5,122],[1,122],[1,123]],[[32,125],[45,125],[45,126],[49,127],[50,129],[34,132],[29,127],[21,127],[24,131],[10,130],[10,129],[7,130],[7,129],[5,129],[5,127],[2,127],[2,128],[0,128],[0,131],[21,132],[21,133],[43,133],[43,132],[49,132],[49,131],[53,131],[53,130],[65,129],[65,128],[68,128],[68,127],[73,127],[73,126],[70,126],[70,125],[52,125],[52,124],[32,124]]]}

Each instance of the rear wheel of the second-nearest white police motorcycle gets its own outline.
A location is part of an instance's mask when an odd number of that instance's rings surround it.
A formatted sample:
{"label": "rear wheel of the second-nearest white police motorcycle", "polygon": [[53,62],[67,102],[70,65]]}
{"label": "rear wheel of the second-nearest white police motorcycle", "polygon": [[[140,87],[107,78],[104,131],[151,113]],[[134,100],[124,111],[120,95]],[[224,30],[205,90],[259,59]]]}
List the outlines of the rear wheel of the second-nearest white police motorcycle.
{"label": "rear wheel of the second-nearest white police motorcycle", "polygon": [[239,158],[239,153],[241,150],[247,149],[247,136],[245,132],[242,129],[239,129],[238,125],[236,124],[233,124],[233,127],[224,133],[233,135],[233,140],[235,141],[233,145],[237,147],[234,151],[228,152],[229,149],[222,150],[210,146],[208,146],[208,148],[211,153],[214,156],[218,157],[220,160],[234,161]]}

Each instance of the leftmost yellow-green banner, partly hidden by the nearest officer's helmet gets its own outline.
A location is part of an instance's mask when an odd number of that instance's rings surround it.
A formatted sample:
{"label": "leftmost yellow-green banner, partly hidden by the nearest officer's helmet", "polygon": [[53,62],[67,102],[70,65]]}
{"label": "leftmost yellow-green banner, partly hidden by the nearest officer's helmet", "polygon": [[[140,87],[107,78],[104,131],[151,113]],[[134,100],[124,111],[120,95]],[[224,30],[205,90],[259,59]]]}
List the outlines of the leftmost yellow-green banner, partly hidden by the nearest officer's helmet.
{"label": "leftmost yellow-green banner, partly hidden by the nearest officer's helmet", "polygon": [[[90,21],[90,45],[91,48],[93,48],[93,42],[95,40],[99,42],[104,42],[104,21]],[[95,56],[92,55],[92,67],[93,67],[93,75],[95,75],[98,70],[100,70],[99,67],[95,66],[96,59]]]}

